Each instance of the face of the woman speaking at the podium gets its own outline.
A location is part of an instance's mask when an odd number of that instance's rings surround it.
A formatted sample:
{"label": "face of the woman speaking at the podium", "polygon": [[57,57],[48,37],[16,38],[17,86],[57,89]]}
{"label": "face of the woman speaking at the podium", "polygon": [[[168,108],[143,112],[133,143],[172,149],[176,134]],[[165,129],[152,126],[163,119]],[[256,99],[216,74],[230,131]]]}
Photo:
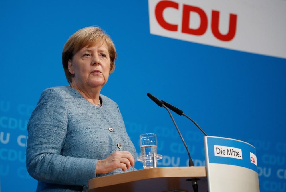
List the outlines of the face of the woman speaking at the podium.
{"label": "face of the woman speaking at the podium", "polygon": [[80,86],[103,87],[109,76],[110,58],[107,45],[97,43],[93,47],[79,50],[68,63],[69,72],[74,74],[73,83]]}

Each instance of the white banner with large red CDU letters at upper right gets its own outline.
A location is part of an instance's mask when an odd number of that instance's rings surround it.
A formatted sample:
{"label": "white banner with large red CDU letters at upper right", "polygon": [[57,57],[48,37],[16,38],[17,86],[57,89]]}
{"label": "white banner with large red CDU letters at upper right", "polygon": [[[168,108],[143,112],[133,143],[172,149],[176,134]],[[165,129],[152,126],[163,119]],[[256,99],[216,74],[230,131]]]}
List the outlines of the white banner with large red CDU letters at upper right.
{"label": "white banner with large red CDU letters at upper right", "polygon": [[148,0],[150,33],[286,58],[285,0]]}

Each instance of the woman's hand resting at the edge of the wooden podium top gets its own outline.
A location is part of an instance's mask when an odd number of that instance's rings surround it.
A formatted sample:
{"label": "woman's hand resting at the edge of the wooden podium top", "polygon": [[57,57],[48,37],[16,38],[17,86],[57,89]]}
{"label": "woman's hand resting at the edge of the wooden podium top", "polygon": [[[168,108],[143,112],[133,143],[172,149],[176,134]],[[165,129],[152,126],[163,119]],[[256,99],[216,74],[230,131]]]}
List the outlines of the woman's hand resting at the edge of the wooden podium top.
{"label": "woman's hand resting at the edge of the wooden podium top", "polygon": [[98,160],[95,174],[106,174],[114,169],[121,168],[122,171],[134,167],[134,158],[129,151],[115,151],[106,159]]}

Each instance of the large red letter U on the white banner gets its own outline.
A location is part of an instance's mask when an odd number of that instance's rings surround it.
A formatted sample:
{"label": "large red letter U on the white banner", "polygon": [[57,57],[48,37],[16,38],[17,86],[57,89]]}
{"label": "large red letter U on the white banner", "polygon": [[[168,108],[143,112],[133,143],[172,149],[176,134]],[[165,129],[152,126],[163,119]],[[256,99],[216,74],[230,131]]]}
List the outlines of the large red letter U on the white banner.
{"label": "large red letter U on the white banner", "polygon": [[230,41],[235,36],[237,15],[230,14],[229,17],[229,32],[222,35],[219,32],[219,11],[212,10],[212,33],[217,39],[222,41]]}

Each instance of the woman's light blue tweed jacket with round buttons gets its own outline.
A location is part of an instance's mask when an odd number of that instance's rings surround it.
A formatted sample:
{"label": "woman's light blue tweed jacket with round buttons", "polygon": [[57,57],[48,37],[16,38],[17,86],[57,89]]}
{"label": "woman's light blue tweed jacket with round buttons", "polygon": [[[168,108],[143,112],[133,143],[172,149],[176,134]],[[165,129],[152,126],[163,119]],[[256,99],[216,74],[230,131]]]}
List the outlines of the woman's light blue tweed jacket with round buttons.
{"label": "woman's light blue tweed jacket with round buttons", "polygon": [[[26,152],[27,170],[38,180],[37,191],[88,191],[88,180],[96,177],[97,160],[116,150],[129,151],[136,158],[118,105],[100,97],[99,108],[69,86],[43,91],[28,123]],[[97,177],[122,172],[116,169]]]}

